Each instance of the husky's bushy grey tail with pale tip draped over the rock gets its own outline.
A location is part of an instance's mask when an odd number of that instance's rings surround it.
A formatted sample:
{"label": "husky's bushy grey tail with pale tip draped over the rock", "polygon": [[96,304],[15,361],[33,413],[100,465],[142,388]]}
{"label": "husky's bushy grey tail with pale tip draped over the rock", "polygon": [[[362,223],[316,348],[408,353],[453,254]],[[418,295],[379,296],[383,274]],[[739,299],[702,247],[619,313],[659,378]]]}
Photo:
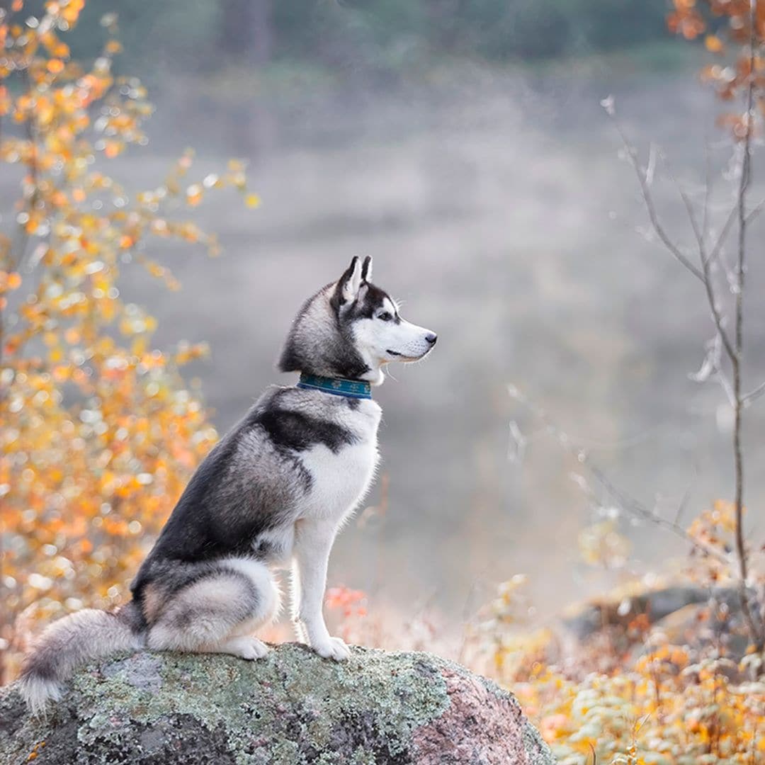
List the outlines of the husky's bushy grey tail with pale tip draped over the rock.
{"label": "husky's bushy grey tail with pale tip draped over the rock", "polygon": [[34,715],[58,701],[63,682],[76,669],[112,653],[140,649],[144,643],[135,602],[108,612],[85,608],[50,625],[24,660],[18,690]]}

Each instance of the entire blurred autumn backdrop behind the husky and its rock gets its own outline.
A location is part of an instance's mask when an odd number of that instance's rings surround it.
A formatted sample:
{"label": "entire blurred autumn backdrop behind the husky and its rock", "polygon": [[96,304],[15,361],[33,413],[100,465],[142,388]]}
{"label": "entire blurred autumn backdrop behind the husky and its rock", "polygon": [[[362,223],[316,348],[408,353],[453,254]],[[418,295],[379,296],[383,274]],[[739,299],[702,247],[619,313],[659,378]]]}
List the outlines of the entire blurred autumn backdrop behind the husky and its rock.
{"label": "entire blurred autumn backdrop behind the husky and its rock", "polygon": [[765,0],[0,0],[0,685],[369,255],[440,340],[375,392],[330,630],[562,765],[760,762],[763,115]]}

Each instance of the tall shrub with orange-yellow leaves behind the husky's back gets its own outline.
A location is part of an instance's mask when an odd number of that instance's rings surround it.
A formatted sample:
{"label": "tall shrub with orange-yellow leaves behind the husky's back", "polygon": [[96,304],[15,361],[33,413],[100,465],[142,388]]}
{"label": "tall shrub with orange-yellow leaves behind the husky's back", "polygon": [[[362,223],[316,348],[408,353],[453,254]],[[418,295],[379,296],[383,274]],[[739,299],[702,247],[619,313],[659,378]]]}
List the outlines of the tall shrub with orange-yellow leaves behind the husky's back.
{"label": "tall shrub with orange-yellow leaves behind the husky's back", "polygon": [[85,605],[109,607],[125,587],[216,432],[179,367],[205,353],[151,347],[156,321],[120,297],[136,264],[175,238],[218,252],[215,236],[175,220],[178,202],[233,187],[232,161],[184,189],[187,152],[164,182],[131,196],[106,160],[145,145],[141,83],[116,77],[116,15],[90,65],[61,39],[84,0],[16,0],[0,9],[0,161],[20,194],[0,232],[0,682],[11,679],[31,623]]}

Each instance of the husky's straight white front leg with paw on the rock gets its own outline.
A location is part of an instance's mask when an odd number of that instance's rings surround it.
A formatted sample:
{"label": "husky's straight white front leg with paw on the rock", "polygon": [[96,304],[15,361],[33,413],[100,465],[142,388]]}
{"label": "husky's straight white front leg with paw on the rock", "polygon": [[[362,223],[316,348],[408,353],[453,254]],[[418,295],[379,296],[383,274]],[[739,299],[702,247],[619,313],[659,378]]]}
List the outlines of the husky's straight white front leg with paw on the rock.
{"label": "husky's straight white front leg with paw on the rock", "polygon": [[339,637],[330,636],[324,623],[324,588],[327,586],[327,562],[337,534],[337,523],[327,520],[304,519],[295,528],[295,567],[297,577],[292,597],[293,614],[298,638],[325,659],[340,661],[350,656],[350,650]]}

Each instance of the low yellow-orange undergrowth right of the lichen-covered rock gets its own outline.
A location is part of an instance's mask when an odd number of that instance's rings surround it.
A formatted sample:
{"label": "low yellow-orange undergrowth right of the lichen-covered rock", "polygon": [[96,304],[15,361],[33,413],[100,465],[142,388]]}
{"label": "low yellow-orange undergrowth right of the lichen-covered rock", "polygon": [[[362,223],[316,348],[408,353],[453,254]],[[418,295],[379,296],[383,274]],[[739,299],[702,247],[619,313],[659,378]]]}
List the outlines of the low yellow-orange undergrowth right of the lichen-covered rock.
{"label": "low yellow-orange undergrowth right of the lichen-covered rock", "polygon": [[715,646],[673,645],[653,627],[642,647],[613,653],[608,671],[607,644],[597,640],[561,659],[548,630],[505,618],[519,603],[521,614],[528,610],[525,584],[515,577],[500,587],[468,662],[518,696],[561,765],[750,765],[765,757],[758,656],[734,662]]}

